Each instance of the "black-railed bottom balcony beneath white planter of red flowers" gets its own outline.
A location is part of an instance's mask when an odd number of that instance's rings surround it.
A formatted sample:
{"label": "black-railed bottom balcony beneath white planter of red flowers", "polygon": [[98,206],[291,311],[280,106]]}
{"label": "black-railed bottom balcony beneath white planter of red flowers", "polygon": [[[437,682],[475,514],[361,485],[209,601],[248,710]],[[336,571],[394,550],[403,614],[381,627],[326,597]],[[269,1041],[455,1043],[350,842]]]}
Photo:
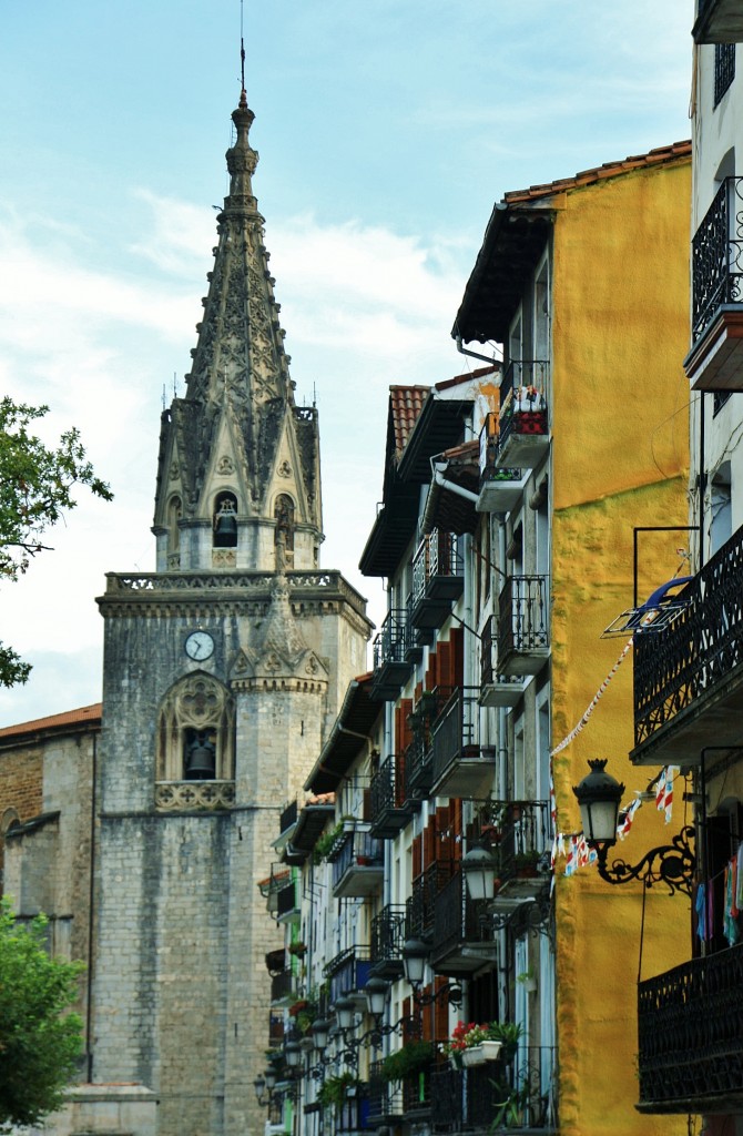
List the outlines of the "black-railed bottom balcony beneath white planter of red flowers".
{"label": "black-railed bottom balcony beneath white planter of red flowers", "polygon": [[556,1133],[557,1053],[521,1046],[509,1063],[437,1066],[431,1076],[434,1131]]}

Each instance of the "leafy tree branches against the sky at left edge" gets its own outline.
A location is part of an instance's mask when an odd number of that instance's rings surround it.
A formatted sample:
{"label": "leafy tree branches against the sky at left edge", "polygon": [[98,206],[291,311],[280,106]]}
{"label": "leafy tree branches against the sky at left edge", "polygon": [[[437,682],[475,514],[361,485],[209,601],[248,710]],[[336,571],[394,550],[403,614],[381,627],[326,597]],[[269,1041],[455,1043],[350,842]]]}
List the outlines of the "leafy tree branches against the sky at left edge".
{"label": "leafy tree branches against the sky at left edge", "polygon": [[[66,431],[53,449],[30,432],[48,410],[0,400],[0,580],[17,580],[32,557],[49,548],[41,543],[42,534],[75,508],[74,485],[86,485],[106,501],[112,498],[86,461],[77,429]],[[0,686],[25,683],[30,670],[12,648],[0,643]]]}

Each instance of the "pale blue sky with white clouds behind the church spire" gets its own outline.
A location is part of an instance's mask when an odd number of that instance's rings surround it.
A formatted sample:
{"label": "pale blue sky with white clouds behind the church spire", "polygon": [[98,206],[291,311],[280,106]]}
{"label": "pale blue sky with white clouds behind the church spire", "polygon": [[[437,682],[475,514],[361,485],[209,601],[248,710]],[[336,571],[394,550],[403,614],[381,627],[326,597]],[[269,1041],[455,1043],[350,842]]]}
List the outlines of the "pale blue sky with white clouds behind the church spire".
{"label": "pale blue sky with white clouds behind the church spire", "polygon": [[0,393],[74,425],[85,491],[17,584],[0,640],[33,665],[0,726],[101,696],[107,571],[152,571],[164,398],[184,393],[229,115],[253,177],[298,401],[319,409],[326,541],[358,561],[387,392],[477,366],[451,327],[509,190],[688,137],[692,0],[0,0]]}

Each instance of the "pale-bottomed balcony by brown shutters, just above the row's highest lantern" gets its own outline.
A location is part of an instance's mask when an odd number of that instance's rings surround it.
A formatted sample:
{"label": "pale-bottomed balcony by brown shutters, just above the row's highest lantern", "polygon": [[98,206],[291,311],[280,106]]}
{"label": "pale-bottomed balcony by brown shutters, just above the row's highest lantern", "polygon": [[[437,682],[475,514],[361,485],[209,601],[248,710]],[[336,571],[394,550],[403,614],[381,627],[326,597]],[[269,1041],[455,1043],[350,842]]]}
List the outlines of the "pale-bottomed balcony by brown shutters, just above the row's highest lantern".
{"label": "pale-bottomed balcony by brown shutters, just above the row's highest lantern", "polygon": [[493,750],[479,744],[476,687],[458,687],[432,734],[432,796],[485,797],[493,778]]}

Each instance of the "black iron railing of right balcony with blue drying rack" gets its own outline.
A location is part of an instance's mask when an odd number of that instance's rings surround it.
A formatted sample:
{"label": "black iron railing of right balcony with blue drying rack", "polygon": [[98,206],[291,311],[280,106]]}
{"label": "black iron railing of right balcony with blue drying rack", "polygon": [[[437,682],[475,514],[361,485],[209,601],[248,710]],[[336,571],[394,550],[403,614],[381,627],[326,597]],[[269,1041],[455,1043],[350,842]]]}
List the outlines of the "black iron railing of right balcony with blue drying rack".
{"label": "black iron railing of right balcony with blue drying rack", "polygon": [[635,636],[635,745],[743,662],[743,528],[682,593],[671,624]]}

